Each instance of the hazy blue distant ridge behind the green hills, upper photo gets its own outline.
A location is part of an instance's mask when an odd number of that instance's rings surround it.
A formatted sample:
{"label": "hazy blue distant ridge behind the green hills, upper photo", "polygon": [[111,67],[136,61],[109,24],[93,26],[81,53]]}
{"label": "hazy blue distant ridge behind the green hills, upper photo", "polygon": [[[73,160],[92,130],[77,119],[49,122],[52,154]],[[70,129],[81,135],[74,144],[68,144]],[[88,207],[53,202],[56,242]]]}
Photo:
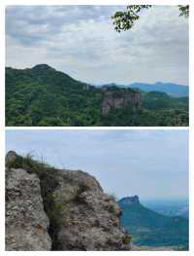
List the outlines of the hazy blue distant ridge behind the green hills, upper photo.
{"label": "hazy blue distant ridge behind the green hills, upper photo", "polygon": [[134,83],[129,86],[132,89],[139,89],[142,91],[162,91],[175,97],[185,97],[189,94],[189,89],[187,86],[180,86],[172,83],[155,83],[155,84],[142,84]]}

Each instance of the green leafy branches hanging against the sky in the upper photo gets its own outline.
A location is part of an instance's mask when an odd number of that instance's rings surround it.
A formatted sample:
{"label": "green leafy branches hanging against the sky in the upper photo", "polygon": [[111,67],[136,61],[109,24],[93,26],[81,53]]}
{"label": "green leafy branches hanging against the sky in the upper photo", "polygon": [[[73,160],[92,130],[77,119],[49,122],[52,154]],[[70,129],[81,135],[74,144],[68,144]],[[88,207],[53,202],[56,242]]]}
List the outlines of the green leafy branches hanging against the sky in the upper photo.
{"label": "green leafy branches hanging against the sky in the upper photo", "polygon": [[[116,12],[112,19],[114,29],[117,32],[126,31],[131,29],[135,22],[140,18],[140,12],[144,9],[151,8],[151,5],[129,5],[126,10]],[[179,16],[183,16],[184,18],[189,17],[189,6],[178,6]]]}

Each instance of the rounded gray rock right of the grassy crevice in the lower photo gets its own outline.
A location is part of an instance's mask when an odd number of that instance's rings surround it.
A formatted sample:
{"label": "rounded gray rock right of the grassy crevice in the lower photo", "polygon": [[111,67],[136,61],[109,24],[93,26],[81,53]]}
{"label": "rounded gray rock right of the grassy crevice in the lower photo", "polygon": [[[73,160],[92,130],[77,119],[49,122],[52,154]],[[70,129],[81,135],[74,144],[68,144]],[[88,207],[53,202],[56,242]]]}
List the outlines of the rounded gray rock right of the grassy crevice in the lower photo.
{"label": "rounded gray rock right of the grassy crevice in the lower photo", "polygon": [[61,250],[129,250],[119,226],[120,208],[97,180],[82,171],[63,170],[54,199],[60,205]]}

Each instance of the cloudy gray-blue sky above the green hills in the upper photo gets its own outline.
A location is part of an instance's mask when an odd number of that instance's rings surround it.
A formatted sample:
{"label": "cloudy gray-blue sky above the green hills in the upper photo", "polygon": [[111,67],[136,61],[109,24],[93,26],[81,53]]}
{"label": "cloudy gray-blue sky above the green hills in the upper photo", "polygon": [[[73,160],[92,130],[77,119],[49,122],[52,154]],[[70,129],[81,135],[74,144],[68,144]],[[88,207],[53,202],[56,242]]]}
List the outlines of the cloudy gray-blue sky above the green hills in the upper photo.
{"label": "cloudy gray-blue sky above the green hills in the upper photo", "polygon": [[47,63],[94,85],[170,82],[188,86],[188,19],[178,7],[143,11],[130,31],[111,16],[124,6],[10,6],[6,65]]}

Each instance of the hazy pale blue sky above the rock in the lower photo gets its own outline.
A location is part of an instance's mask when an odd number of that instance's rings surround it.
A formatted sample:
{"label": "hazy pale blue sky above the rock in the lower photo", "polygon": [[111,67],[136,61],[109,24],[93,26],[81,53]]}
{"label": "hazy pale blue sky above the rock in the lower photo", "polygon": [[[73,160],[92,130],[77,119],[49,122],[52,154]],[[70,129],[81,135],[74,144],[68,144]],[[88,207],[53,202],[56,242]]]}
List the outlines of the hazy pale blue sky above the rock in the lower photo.
{"label": "hazy pale blue sky above the rock in the lower photo", "polygon": [[187,199],[187,130],[7,130],[7,151],[95,176],[121,199]]}

